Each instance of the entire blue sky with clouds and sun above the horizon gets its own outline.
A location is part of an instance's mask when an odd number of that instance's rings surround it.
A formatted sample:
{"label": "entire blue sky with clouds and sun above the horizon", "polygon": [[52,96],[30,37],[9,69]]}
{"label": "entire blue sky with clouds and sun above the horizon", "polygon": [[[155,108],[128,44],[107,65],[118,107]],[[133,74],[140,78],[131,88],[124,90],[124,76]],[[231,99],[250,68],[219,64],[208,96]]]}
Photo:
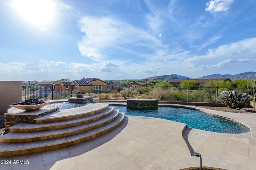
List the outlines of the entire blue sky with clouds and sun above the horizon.
{"label": "entire blue sky with clouds and sun above the horizon", "polygon": [[1,0],[0,80],[256,71],[255,0]]}

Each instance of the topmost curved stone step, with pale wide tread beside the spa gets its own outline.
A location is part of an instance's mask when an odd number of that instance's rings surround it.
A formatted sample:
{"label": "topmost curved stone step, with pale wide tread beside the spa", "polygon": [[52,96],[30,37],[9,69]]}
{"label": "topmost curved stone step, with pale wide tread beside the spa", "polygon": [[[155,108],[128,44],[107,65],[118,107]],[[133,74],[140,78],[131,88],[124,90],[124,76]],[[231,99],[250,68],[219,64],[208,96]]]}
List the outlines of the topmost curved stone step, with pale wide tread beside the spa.
{"label": "topmost curved stone step, with pale wide tread beside the spa", "polygon": [[50,123],[56,121],[67,121],[72,119],[78,119],[88,115],[100,113],[108,109],[108,104],[87,104],[85,106],[76,107],[72,109],[64,109],[56,111],[42,117],[36,118],[36,123]]}

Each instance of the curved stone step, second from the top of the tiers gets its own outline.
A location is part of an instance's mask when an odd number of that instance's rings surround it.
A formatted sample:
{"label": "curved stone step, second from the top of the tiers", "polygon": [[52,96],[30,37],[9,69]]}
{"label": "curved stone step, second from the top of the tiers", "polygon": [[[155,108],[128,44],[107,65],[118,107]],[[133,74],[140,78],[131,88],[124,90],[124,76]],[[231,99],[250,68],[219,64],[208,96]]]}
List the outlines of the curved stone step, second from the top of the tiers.
{"label": "curved stone step, second from the top of the tiers", "polygon": [[83,125],[85,123],[90,123],[92,121],[96,121],[98,119],[102,119],[108,115],[110,115],[114,111],[114,107],[108,107],[108,109],[85,117],[81,117],[78,119],[59,121],[59,122],[51,122],[51,123],[19,123],[17,125],[9,127],[10,132],[18,132],[18,133],[30,133],[30,132],[40,132],[40,131],[49,131],[56,129],[64,129],[68,127],[74,127],[78,125]]}

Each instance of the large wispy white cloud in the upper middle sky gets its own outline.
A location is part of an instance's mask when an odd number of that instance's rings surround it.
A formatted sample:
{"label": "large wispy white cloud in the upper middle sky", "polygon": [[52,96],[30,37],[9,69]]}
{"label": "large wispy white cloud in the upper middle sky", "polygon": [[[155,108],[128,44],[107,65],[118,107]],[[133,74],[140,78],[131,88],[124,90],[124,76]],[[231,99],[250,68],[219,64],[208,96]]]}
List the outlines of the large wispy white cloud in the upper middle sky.
{"label": "large wispy white cloud in the upper middle sky", "polygon": [[[164,47],[155,37],[148,37],[147,31],[115,18],[85,16],[80,20],[80,25],[80,31],[85,35],[78,42],[78,48],[82,55],[94,61],[107,58],[108,48],[134,53],[130,49],[140,47],[154,53],[154,50]],[[139,52],[138,55],[143,54]]]}

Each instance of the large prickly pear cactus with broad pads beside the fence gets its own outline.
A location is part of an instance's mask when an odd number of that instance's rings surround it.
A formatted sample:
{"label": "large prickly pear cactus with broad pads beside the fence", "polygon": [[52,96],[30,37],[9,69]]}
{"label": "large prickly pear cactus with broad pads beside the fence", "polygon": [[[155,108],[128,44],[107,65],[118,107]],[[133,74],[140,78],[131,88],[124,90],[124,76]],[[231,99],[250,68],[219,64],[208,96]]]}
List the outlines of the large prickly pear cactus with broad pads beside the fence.
{"label": "large prickly pear cactus with broad pads beside the fence", "polygon": [[241,90],[230,90],[230,91],[223,91],[220,93],[218,97],[219,102],[223,102],[226,104],[228,108],[240,108],[242,109],[245,106],[250,105],[250,101],[253,99],[250,98],[249,95],[246,93],[242,93]]}

